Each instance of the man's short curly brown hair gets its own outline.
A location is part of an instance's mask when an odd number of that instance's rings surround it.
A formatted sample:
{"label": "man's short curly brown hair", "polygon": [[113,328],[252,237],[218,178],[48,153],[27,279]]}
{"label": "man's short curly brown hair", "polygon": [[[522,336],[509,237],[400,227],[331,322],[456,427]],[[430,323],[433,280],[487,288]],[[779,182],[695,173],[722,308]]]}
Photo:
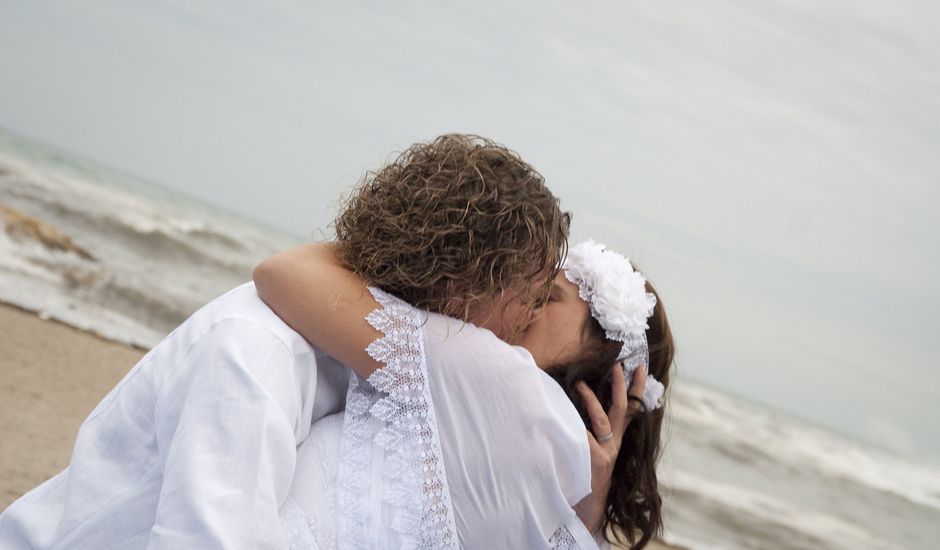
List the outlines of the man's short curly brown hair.
{"label": "man's short curly brown hair", "polygon": [[519,289],[519,330],[547,300],[569,223],[519,155],[447,134],[366,173],[334,227],[347,267],[417,307],[468,320]]}

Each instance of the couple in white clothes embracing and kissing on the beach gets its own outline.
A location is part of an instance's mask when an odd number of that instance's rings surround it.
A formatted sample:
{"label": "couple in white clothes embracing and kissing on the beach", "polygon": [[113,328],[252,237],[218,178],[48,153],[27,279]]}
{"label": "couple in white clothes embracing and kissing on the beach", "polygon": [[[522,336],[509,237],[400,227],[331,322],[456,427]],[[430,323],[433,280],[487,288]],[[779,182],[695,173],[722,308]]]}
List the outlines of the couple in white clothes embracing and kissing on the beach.
{"label": "couple in white clothes embracing and kissing on the beach", "polygon": [[508,149],[412,146],[141,359],[0,547],[644,546],[672,335],[568,224]]}

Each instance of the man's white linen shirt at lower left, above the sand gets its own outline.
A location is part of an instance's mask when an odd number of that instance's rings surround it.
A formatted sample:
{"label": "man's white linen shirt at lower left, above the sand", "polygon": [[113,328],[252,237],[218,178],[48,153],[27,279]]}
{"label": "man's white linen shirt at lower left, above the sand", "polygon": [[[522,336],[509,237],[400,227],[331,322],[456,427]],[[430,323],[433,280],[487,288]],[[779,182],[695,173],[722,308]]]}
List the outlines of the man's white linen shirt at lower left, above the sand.
{"label": "man's white linen shirt at lower left, above the sand", "polygon": [[296,447],[348,379],[242,285],[98,404],[69,466],[0,515],[0,548],[282,548]]}

